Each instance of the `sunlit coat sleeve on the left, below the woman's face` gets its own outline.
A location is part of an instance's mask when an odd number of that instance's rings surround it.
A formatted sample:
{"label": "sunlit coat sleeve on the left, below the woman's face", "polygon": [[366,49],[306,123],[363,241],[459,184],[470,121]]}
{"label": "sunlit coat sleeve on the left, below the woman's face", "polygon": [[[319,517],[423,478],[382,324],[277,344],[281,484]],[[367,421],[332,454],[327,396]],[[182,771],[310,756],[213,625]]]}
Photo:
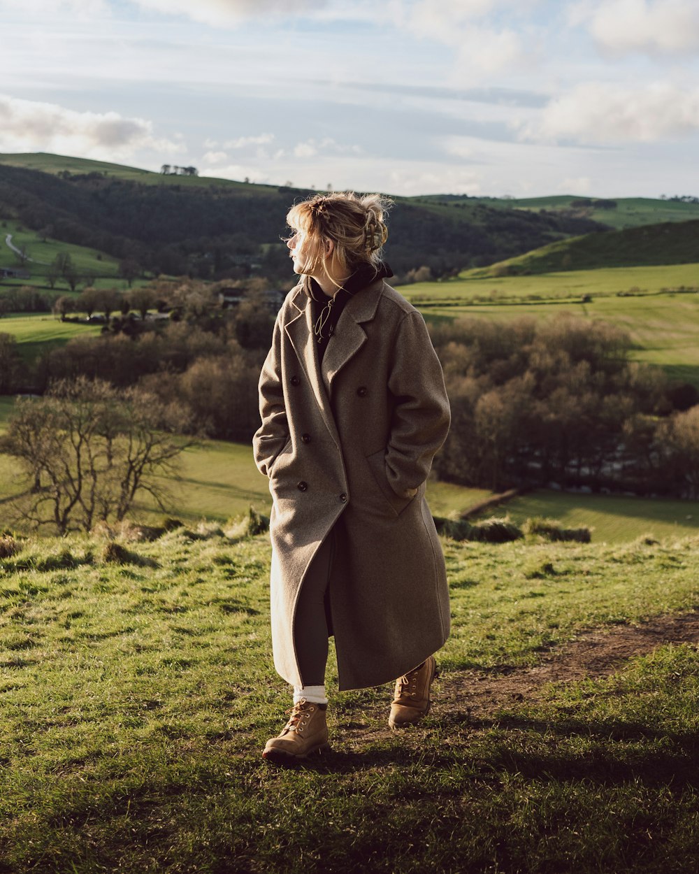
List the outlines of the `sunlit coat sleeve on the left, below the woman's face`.
{"label": "sunlit coat sleeve on the left, below the woman's face", "polygon": [[281,312],[274,323],[272,346],[260,373],[260,419],[253,437],[255,464],[260,474],[270,475],[274,459],[289,438],[287,407],[281,382]]}

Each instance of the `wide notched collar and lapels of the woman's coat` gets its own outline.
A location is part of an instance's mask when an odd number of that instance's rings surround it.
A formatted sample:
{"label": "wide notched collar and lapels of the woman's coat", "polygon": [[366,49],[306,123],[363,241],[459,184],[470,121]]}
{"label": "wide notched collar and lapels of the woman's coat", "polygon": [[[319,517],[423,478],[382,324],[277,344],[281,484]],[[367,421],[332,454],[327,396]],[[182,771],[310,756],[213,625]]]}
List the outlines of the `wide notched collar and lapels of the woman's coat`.
{"label": "wide notched collar and lapels of the woman's coat", "polygon": [[328,350],[322,359],[322,368],[315,353],[314,334],[311,316],[310,300],[301,288],[297,286],[296,294],[291,303],[298,312],[286,323],[284,329],[294,347],[296,357],[313,387],[315,400],[320,407],[323,420],[337,446],[340,439],[337,435],[335,418],[330,407],[333,380],[345,364],[356,355],[366,343],[366,332],[362,328],[364,322],[370,322],[376,316],[378,302],[384,294],[384,280],[372,282],[361,292],[347,302],[341,316],[342,330],[333,337]]}

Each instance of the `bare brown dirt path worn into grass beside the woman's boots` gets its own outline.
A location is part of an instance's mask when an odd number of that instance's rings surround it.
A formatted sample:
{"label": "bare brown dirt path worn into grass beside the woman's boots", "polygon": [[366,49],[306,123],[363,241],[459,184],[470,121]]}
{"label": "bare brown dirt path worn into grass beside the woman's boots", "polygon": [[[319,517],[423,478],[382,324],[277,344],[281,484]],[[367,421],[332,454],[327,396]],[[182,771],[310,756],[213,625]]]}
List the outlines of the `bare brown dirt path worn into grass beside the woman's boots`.
{"label": "bare brown dirt path worn into grass beside the woman's boots", "polygon": [[435,688],[435,704],[440,711],[466,711],[469,717],[482,718],[513,701],[540,697],[548,683],[609,676],[627,659],[647,655],[667,643],[699,643],[699,613],[583,633],[550,649],[532,668],[446,676]]}

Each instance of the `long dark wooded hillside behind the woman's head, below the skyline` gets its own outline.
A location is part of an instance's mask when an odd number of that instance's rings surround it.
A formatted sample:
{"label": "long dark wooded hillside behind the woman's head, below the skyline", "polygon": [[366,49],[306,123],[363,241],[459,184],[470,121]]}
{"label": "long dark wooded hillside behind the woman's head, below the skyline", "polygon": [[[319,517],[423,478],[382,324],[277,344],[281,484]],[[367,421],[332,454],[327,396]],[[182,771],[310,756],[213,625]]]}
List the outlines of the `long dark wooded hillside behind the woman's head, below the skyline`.
{"label": "long dark wooded hillside behind the woman's head, below the skyline", "polygon": [[[154,273],[219,278],[257,265],[288,276],[289,205],[314,192],[174,176],[52,155],[0,156],[0,218],[132,258]],[[396,198],[386,257],[434,276],[510,258],[599,225],[587,218]]]}

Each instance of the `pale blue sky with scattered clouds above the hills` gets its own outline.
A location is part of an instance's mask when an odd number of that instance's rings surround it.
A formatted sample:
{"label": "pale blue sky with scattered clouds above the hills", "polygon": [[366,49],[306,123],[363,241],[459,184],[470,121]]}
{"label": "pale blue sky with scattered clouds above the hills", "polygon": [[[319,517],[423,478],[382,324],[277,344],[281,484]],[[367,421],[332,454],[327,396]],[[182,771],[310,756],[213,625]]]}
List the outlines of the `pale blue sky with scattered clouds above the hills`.
{"label": "pale blue sky with scattered clouds above the hills", "polygon": [[395,195],[699,195],[699,0],[0,0],[0,152]]}

